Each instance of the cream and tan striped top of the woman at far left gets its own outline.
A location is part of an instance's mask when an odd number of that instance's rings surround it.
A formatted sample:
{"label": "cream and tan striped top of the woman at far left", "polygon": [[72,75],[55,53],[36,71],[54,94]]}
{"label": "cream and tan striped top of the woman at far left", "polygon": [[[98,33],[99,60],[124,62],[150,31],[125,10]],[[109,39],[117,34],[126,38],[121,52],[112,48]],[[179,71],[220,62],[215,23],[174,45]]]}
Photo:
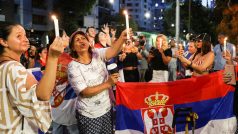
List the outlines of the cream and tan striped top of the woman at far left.
{"label": "cream and tan striped top of the woman at far left", "polygon": [[0,65],[1,134],[19,134],[22,130],[34,134],[38,128],[46,132],[50,126],[50,103],[37,99],[36,85],[26,90],[27,75],[30,74],[19,62]]}

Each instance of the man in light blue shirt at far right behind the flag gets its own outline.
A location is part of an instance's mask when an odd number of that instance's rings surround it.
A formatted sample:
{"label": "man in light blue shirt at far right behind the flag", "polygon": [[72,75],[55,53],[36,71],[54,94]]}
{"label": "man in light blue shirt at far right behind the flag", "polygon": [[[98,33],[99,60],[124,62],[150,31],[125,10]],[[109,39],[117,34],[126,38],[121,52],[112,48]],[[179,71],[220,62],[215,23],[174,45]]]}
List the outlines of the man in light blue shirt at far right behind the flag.
{"label": "man in light blue shirt at far right behind the flag", "polygon": [[[227,35],[225,33],[219,33],[218,34],[218,42],[214,47],[214,54],[215,54],[215,61],[214,61],[214,71],[223,70],[224,66],[226,64],[226,60],[222,57],[223,51],[224,51],[224,40],[227,38]],[[231,54],[231,56],[234,58],[236,56],[236,50],[234,44],[231,44],[229,42],[226,43],[226,50],[228,50]]]}

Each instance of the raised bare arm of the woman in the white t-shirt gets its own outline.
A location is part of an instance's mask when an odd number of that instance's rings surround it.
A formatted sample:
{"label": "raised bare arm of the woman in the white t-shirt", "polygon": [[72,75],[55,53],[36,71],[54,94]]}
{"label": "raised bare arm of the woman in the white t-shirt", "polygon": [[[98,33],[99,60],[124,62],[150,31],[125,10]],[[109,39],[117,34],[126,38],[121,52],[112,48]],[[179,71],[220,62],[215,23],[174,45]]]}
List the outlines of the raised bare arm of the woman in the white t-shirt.
{"label": "raised bare arm of the woman in the white t-shirt", "polygon": [[115,57],[122,50],[122,46],[126,41],[126,30],[124,30],[117,41],[113,43],[111,47],[106,50],[106,59],[109,60]]}

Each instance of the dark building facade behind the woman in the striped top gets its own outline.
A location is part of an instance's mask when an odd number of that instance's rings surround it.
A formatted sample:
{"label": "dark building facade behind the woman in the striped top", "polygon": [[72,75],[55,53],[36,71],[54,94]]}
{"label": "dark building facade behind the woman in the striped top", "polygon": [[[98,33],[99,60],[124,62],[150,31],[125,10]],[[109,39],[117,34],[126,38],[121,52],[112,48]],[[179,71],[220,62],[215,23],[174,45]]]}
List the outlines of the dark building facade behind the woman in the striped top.
{"label": "dark building facade behind the woman in the striped top", "polygon": [[0,0],[0,21],[21,24],[30,41],[41,45],[42,34],[53,29],[52,9],[53,0]]}

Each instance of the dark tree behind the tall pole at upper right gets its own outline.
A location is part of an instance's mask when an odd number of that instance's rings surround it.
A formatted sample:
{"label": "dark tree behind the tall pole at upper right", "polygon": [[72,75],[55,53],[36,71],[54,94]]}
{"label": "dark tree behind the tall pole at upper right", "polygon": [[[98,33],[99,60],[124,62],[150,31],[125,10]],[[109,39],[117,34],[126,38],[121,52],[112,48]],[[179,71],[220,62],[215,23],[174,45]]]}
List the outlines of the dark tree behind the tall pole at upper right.
{"label": "dark tree behind the tall pole at upper right", "polygon": [[[171,2],[168,8],[165,10],[165,23],[164,33],[166,35],[174,36],[175,27],[171,27],[171,24],[175,24],[175,8],[176,2]],[[185,0],[180,4],[180,37],[185,38],[187,32],[196,34],[208,33],[214,36],[215,27],[210,19],[211,10],[204,7],[200,0],[191,0],[191,16],[190,16],[190,31],[189,27],[189,0]],[[185,33],[183,31],[186,31]]]}

